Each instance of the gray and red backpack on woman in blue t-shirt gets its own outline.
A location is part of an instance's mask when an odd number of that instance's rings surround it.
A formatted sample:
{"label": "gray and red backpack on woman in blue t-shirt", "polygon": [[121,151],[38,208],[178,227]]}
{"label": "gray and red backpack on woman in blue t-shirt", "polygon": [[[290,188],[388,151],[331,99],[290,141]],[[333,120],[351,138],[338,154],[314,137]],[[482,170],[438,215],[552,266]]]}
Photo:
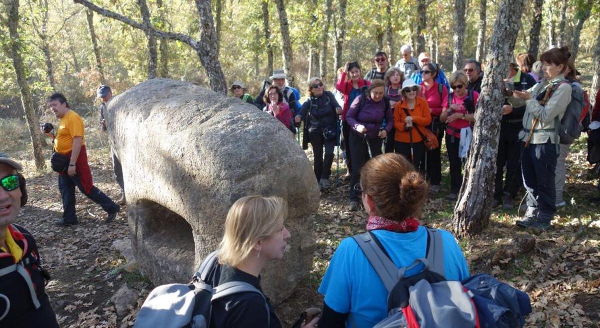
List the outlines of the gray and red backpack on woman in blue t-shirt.
{"label": "gray and red backpack on woman in blue t-shirt", "polygon": [[[427,257],[404,268],[394,265],[373,233],[353,236],[389,293],[388,317],[373,328],[479,328],[473,293],[444,277],[442,235],[430,228],[427,234]],[[405,277],[419,265],[419,274]]]}

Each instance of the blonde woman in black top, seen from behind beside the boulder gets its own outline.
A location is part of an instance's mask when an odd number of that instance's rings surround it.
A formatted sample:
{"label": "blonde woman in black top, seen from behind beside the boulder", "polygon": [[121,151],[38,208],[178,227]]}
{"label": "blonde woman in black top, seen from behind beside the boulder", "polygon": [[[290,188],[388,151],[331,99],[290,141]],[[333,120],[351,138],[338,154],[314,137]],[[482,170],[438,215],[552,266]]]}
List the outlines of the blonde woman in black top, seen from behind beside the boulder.
{"label": "blonde woman in black top, seen from behind beside the boulder", "polygon": [[[279,197],[238,199],[225,220],[225,233],[217,253],[220,265],[208,276],[212,286],[243,281],[262,290],[260,272],[272,260],[283,259],[290,238],[284,226],[286,217],[287,204]],[[314,318],[302,328],[314,327],[317,320]],[[281,321],[267,297],[242,292],[212,302],[210,327],[281,327]]]}

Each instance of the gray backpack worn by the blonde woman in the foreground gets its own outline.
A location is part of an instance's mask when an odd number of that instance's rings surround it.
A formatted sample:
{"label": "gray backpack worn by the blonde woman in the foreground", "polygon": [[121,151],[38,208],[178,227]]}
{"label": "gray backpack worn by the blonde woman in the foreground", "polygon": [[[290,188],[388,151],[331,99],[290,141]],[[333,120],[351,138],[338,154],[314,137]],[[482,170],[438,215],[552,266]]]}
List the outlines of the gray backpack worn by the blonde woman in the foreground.
{"label": "gray backpack worn by the blonde woman in the foreground", "polygon": [[[217,287],[207,283],[211,269],[217,263],[217,251],[200,264],[190,284],[168,284],[154,288],[137,314],[134,328],[208,328],[211,322],[212,301],[236,293],[263,293],[251,284],[230,281]],[[265,299],[270,323],[269,307]]]}

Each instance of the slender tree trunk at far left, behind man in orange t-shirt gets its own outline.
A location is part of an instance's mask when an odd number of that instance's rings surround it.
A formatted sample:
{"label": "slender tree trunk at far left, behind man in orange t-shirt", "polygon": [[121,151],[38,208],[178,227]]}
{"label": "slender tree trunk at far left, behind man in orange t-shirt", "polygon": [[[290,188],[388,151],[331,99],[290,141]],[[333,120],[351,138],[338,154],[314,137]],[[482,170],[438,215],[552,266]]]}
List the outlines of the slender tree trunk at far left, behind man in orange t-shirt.
{"label": "slender tree trunk at far left, behind man in orange t-shirt", "polygon": [[25,118],[29,127],[29,135],[31,135],[31,145],[33,147],[33,156],[35,159],[35,168],[46,168],[46,161],[42,153],[42,142],[40,132],[40,120],[35,114],[34,102],[31,96],[31,89],[26,77],[25,64],[21,56],[22,40],[19,37],[19,0],[2,0],[4,2],[6,20],[8,25],[9,40],[5,45],[5,52],[13,60],[14,73],[17,76],[17,83],[21,93],[21,102]]}

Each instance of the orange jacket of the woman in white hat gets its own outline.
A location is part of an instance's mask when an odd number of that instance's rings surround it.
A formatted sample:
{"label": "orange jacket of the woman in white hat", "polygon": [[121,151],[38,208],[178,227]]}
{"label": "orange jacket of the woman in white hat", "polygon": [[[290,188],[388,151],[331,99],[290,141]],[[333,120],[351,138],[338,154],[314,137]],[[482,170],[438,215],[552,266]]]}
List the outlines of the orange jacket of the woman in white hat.
{"label": "orange jacket of the woman in white hat", "polygon": [[419,96],[416,97],[415,108],[413,110],[408,109],[406,99],[403,99],[402,102],[397,102],[394,105],[394,129],[396,129],[394,140],[398,142],[410,142],[410,132],[404,130],[404,119],[406,119],[406,112],[404,111],[404,108],[409,111],[410,116],[413,118],[412,141],[422,141],[423,138],[421,138],[421,135],[419,132],[417,132],[416,126],[419,127],[421,133],[425,133],[424,128],[431,123],[431,112],[425,98],[421,98]]}

